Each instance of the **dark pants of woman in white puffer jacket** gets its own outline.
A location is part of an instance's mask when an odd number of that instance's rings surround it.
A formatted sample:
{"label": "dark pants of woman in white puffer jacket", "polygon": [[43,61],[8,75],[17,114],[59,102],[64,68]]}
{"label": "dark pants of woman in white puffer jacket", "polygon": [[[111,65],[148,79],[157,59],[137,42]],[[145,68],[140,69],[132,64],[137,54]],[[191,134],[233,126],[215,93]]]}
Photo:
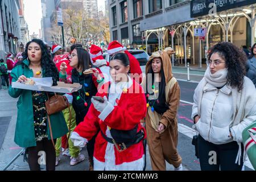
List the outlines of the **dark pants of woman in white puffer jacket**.
{"label": "dark pants of woman in white puffer jacket", "polygon": [[[202,171],[241,171],[243,166],[243,154],[240,160],[240,166],[236,164],[238,153],[237,142],[229,142],[225,144],[213,144],[204,140],[199,135],[199,160]],[[243,148],[243,146],[242,146]],[[243,153],[243,150],[242,150]],[[216,160],[214,162],[214,154]]]}

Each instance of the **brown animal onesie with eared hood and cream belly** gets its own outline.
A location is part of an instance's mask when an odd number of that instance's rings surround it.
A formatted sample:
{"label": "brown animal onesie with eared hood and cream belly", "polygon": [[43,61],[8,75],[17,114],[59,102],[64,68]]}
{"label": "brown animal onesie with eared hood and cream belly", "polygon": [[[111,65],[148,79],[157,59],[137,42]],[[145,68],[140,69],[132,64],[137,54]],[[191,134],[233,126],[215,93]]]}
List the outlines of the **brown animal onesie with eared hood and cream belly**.
{"label": "brown animal onesie with eared hood and cream belly", "polygon": [[[179,167],[181,157],[177,151],[177,110],[180,101],[180,87],[177,80],[172,76],[172,67],[170,55],[172,51],[158,51],[152,53],[150,61],[146,65],[146,73],[150,71],[152,60],[155,57],[162,59],[162,68],[166,81],[166,104],[168,109],[163,114],[152,111],[148,106],[146,115],[147,144],[150,152],[152,169],[164,171],[166,170],[166,162]],[[160,56],[159,56],[160,55]],[[159,133],[159,122],[165,126],[165,129]]]}

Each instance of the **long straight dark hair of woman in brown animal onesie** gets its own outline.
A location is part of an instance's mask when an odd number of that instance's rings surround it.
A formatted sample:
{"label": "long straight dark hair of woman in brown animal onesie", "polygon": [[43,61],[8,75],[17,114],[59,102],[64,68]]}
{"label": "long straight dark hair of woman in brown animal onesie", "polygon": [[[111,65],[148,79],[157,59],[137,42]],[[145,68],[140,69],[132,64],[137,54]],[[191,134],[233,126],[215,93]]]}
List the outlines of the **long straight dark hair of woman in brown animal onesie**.
{"label": "long straight dark hair of woman in brown animal onesie", "polygon": [[[159,92],[158,92],[158,98],[157,100],[159,101],[158,102],[158,105],[159,106],[164,106],[166,105],[166,77],[164,76],[164,71],[163,71],[163,60],[161,57],[159,57],[161,59],[161,71],[160,71],[160,75],[161,75],[161,81],[159,82]],[[154,85],[154,82],[155,82],[155,73],[153,71],[153,68],[152,68],[152,61],[150,61],[150,64],[148,65],[148,72],[147,72],[147,76],[146,76],[146,84],[150,83],[150,81],[148,81],[148,73],[149,74],[152,74],[152,82],[151,82],[151,85],[146,85],[146,90],[147,90],[147,94],[152,94],[154,93],[153,90],[152,90],[152,86]]]}

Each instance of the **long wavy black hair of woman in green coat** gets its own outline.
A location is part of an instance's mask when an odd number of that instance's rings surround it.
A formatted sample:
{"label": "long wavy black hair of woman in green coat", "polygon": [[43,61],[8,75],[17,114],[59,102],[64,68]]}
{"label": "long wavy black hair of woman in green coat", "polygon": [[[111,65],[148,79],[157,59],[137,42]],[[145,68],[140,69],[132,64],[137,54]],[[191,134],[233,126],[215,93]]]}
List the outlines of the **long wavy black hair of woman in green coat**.
{"label": "long wavy black hair of woman in green coat", "polygon": [[[56,65],[51,60],[51,55],[47,50],[46,44],[40,39],[32,39],[30,42],[26,44],[26,49],[22,53],[23,60],[28,60],[28,46],[34,42],[37,43],[42,50],[42,58],[41,58],[41,67],[44,72],[44,77],[52,77],[53,85],[57,85],[57,81],[59,81],[59,72],[56,68]],[[28,60],[29,61],[29,60]],[[23,61],[19,61],[16,65],[23,64]]]}

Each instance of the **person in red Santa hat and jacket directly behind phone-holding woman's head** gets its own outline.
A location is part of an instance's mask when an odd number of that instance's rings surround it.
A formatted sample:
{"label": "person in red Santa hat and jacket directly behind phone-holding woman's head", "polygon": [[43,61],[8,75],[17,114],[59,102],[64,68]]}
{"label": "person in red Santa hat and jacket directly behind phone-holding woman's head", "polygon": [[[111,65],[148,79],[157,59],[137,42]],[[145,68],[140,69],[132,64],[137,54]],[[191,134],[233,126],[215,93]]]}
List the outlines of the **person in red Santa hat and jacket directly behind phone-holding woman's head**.
{"label": "person in red Santa hat and jacket directly behind phone-holding woman's head", "polygon": [[139,84],[141,84],[143,76],[142,76],[141,66],[139,65],[139,61],[133,55],[131,55],[129,51],[126,50],[126,47],[123,47],[122,44],[120,44],[116,40],[114,40],[113,42],[110,42],[108,47],[108,54],[110,56],[113,56],[115,53],[118,53],[118,52],[124,52],[129,57],[130,73],[131,73],[130,76]]}

